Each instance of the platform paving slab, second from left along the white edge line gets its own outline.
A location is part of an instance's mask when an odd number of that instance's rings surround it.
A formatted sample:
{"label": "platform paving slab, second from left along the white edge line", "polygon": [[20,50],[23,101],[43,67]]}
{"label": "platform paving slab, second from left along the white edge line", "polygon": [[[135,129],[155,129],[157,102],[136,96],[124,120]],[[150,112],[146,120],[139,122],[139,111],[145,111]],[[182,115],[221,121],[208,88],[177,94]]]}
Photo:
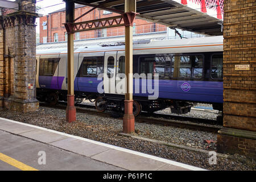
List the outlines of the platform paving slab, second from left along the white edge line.
{"label": "platform paving slab, second from left along the white edge line", "polygon": [[52,143],[58,140],[67,139],[64,135],[59,135],[56,133],[52,133],[50,131],[44,131],[40,129],[35,129],[33,131],[28,131],[26,133],[20,134],[23,137],[31,138],[43,143]]}

